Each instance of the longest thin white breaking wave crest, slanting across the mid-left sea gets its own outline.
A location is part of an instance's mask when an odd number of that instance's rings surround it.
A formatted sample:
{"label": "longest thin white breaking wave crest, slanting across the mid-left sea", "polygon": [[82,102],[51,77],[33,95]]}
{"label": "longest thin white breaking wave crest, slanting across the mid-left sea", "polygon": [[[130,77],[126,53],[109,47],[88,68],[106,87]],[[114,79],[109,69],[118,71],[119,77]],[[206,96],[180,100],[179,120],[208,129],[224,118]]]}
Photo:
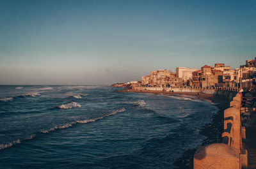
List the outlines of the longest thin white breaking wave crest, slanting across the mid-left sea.
{"label": "longest thin white breaking wave crest, slanting across the mid-left sea", "polygon": [[77,123],[88,123],[88,122],[99,121],[100,119],[103,119],[104,117],[108,117],[110,115],[116,115],[119,112],[125,112],[125,108],[121,108],[121,109],[118,109],[118,110],[113,110],[110,114],[106,114],[106,115],[103,115],[102,117],[97,117],[95,119],[87,119],[87,120],[74,121],[74,122],[70,122],[70,123],[67,123],[67,124],[60,125],[60,126],[54,126],[53,128],[50,128],[48,130],[42,130],[42,131],[40,131],[40,133],[49,133],[51,131],[55,131],[56,129],[70,128],[74,124],[77,124]]}

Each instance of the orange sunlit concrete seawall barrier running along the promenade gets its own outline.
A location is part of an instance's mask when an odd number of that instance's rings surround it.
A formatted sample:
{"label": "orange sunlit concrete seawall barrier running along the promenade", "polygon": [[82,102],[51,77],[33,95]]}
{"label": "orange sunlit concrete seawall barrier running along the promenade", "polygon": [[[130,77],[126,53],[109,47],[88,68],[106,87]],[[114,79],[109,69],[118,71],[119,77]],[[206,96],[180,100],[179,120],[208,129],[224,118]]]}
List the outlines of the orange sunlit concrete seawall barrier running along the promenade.
{"label": "orange sunlit concrete seawall barrier running along the promenade", "polygon": [[198,147],[194,155],[195,169],[248,168],[248,152],[243,147],[246,131],[241,126],[241,109],[241,95],[236,94],[230,108],[224,110],[222,143]]}

